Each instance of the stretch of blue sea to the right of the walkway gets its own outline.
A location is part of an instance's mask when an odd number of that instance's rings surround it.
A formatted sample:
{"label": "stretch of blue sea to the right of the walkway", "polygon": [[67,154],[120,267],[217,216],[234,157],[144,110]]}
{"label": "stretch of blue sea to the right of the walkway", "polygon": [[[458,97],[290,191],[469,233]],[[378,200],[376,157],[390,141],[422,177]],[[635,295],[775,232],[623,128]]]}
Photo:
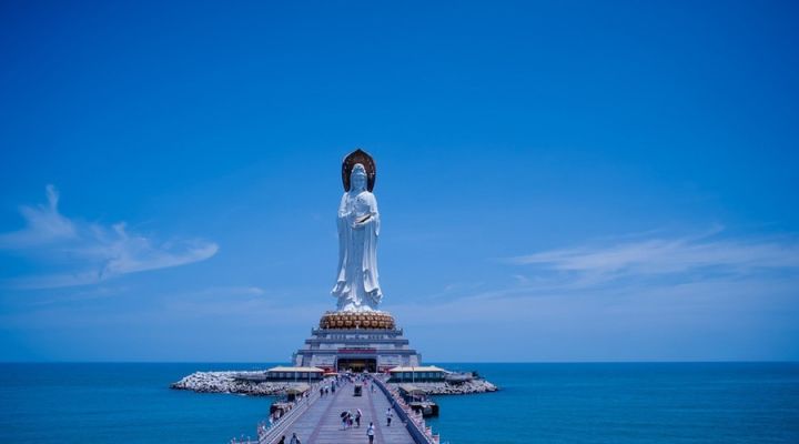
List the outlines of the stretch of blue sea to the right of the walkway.
{"label": "stretch of blue sea to the right of the walkway", "polygon": [[442,414],[428,423],[452,444],[799,444],[799,363],[481,364],[474,370],[502,390],[436,398]]}

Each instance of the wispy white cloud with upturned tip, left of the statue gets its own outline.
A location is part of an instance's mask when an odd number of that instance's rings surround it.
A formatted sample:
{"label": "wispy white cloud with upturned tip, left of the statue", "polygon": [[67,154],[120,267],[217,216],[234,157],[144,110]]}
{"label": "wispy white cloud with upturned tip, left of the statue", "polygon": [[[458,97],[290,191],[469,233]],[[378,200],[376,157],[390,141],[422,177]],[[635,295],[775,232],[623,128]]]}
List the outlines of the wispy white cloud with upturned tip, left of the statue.
{"label": "wispy white cloud with upturned tip, left of the statue", "polygon": [[215,243],[198,239],[159,242],[131,232],[124,222],[107,226],[71,220],[59,212],[59,193],[53,185],[47,186],[47,204],[20,209],[26,226],[0,234],[0,250],[34,255],[44,265],[68,266],[57,273],[17,278],[9,282],[14,287],[94,284],[123,274],[203,261],[219,251]]}

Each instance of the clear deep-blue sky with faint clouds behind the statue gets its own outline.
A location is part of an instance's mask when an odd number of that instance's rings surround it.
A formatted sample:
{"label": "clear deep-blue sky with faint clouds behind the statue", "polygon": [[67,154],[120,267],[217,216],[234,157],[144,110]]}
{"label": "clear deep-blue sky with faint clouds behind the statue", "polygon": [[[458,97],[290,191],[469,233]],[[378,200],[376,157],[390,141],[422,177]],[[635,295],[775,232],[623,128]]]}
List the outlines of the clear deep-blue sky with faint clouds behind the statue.
{"label": "clear deep-blue sky with faint clouds behind the statue", "polygon": [[3,2],[0,354],[287,361],[342,158],[427,361],[799,359],[790,2]]}

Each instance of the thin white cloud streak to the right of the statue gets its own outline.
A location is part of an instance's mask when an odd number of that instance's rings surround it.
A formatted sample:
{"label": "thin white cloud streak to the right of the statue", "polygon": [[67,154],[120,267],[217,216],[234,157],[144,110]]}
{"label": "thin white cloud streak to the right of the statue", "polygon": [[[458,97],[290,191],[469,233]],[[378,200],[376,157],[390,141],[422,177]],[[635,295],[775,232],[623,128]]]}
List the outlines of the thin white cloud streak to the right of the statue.
{"label": "thin white cloud streak to the right of the statue", "polygon": [[[506,259],[517,265],[509,281],[485,291],[462,294],[457,301],[492,301],[513,297],[575,296],[614,301],[672,294],[684,285],[707,284],[725,289],[747,287],[762,297],[775,285],[799,283],[799,243],[793,238],[714,240],[719,229],[694,236],[641,239],[635,235],[616,243],[555,249]],[[660,233],[661,234],[661,233]],[[520,266],[526,270],[519,272]],[[433,300],[433,296],[428,297]]]}

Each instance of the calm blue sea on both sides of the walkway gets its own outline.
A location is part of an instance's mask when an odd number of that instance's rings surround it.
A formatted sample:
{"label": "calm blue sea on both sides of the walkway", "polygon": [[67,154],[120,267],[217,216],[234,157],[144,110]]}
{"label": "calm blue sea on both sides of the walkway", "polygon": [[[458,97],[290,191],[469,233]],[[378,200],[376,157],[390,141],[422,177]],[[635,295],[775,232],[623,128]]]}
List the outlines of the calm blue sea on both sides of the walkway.
{"label": "calm blue sea on both sides of the walkway", "polygon": [[[169,389],[271,364],[0,364],[0,443],[209,443],[271,398]],[[438,396],[442,442],[799,443],[799,363],[452,364],[497,393]]]}

